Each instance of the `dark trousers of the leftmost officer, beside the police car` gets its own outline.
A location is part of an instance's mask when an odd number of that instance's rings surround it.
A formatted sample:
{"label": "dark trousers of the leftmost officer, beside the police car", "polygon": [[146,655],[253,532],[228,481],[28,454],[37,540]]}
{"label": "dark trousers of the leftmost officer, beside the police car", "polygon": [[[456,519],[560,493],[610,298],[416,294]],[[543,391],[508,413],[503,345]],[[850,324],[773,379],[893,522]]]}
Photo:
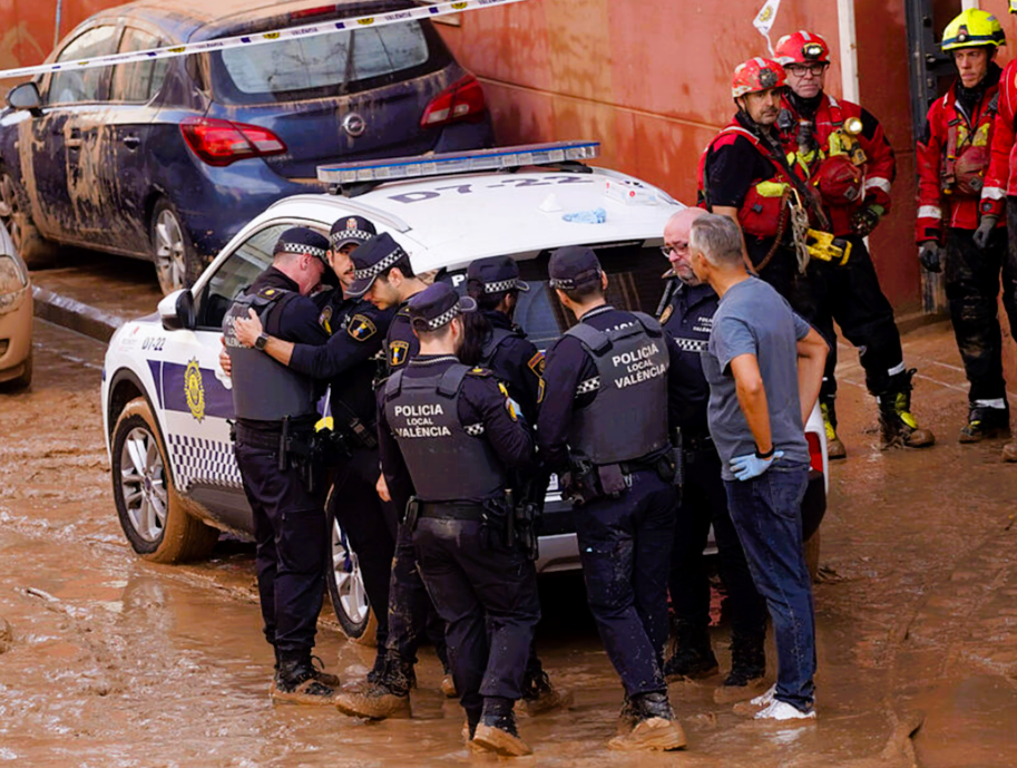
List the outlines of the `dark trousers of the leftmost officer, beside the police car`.
{"label": "dark trousers of the leftmost officer, beside the police car", "polygon": [[293,461],[281,472],[277,436],[238,425],[234,453],[254,513],[265,638],[281,652],[310,652],[325,586],[325,484],[312,494]]}

